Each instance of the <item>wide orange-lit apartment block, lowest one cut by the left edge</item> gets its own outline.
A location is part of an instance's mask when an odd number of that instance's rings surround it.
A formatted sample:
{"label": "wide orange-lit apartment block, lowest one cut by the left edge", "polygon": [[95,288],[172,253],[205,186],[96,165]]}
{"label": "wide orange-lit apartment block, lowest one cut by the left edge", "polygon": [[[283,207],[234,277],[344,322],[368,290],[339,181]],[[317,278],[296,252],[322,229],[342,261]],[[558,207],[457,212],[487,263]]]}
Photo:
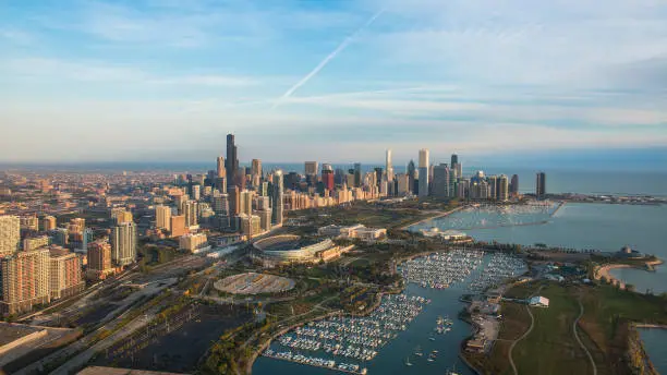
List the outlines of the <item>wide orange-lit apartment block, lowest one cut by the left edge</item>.
{"label": "wide orange-lit apartment block, lowest one cut by the left edge", "polygon": [[49,250],[17,252],[0,258],[0,312],[17,314],[50,302]]}

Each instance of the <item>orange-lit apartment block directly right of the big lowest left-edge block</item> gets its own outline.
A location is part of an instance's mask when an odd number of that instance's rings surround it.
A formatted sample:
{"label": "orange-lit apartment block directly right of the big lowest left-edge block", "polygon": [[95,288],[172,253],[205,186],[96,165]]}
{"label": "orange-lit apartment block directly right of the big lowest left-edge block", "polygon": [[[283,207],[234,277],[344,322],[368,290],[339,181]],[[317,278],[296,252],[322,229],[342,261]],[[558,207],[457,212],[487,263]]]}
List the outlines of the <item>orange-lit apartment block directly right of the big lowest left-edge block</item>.
{"label": "orange-lit apartment block directly right of the big lowest left-edge block", "polygon": [[81,275],[81,257],[64,249],[49,252],[49,291],[51,300],[74,295],[85,288]]}

